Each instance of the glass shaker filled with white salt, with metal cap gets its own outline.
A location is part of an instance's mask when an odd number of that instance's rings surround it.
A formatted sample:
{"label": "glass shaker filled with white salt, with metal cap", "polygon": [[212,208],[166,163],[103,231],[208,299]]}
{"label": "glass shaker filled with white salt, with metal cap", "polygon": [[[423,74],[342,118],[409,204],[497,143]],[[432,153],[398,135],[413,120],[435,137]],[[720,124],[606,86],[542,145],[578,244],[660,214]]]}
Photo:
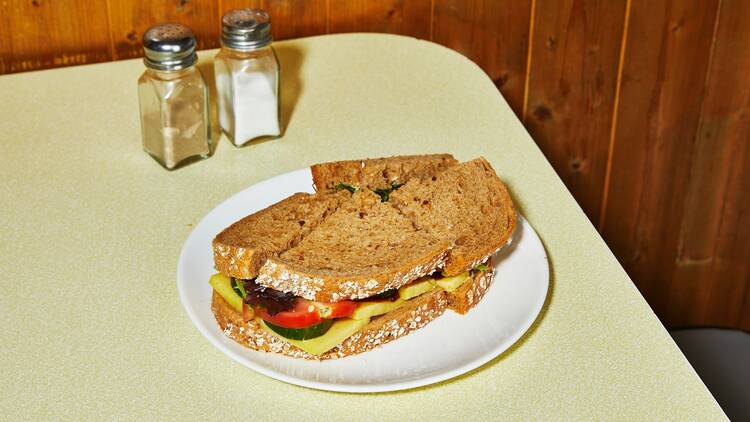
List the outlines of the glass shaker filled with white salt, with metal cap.
{"label": "glass shaker filled with white salt, with metal cap", "polygon": [[271,47],[271,18],[260,9],[237,9],[221,24],[214,70],[222,131],[236,146],[279,136],[279,62]]}

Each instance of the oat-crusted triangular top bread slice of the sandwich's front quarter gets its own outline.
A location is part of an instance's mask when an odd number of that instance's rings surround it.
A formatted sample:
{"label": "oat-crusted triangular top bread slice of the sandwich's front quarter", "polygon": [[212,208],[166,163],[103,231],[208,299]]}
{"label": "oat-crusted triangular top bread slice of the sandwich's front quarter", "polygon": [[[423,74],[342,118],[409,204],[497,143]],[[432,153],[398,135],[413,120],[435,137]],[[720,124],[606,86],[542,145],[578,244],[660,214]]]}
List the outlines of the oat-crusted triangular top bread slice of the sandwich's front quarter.
{"label": "oat-crusted triangular top bread slice of the sandwich's front quarter", "polygon": [[361,299],[434,272],[449,248],[360,190],[297,246],[269,257],[256,282],[321,302]]}

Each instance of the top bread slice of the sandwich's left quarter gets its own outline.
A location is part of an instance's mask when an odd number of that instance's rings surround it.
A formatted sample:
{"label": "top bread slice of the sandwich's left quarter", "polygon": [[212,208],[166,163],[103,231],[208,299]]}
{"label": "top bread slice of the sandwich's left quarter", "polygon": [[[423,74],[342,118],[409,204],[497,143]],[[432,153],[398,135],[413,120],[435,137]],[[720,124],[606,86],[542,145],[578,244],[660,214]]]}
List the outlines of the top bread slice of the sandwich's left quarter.
{"label": "top bread slice of the sandwich's left quarter", "polygon": [[237,221],[213,240],[216,269],[230,277],[255,277],[266,259],[296,245],[350,197],[347,191],[296,193]]}

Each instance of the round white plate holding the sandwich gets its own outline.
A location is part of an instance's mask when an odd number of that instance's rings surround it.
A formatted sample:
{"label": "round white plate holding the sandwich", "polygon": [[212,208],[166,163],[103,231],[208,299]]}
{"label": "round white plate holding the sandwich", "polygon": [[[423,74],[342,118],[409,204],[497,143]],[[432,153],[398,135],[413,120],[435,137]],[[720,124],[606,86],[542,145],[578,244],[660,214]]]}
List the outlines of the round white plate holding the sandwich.
{"label": "round white plate holding the sandwich", "polygon": [[[224,336],[211,313],[211,240],[236,220],[295,192],[311,192],[309,169],[265,180],[214,208],[190,233],[177,266],[177,290],[198,330],[232,359],[269,377],[310,388],[346,392],[419,387],[477,368],[510,347],[531,326],[549,285],[547,255],[519,216],[513,244],[496,256],[495,281],[467,315],[453,311],[413,334],[375,350],[322,362],[257,352]],[[418,358],[416,358],[418,357]]]}

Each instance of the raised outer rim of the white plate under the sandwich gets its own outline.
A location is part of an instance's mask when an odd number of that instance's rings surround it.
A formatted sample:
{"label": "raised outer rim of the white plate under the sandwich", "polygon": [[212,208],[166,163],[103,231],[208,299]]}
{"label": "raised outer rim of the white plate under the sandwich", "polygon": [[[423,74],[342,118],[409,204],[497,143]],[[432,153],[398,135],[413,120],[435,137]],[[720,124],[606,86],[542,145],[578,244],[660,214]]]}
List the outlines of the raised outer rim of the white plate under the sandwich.
{"label": "raised outer rim of the white plate under the sandwich", "polygon": [[[205,324],[203,324],[202,319],[199,318],[199,315],[197,315],[196,312],[193,310],[191,306],[192,301],[188,298],[187,289],[183,287],[184,283],[181,282],[181,280],[187,277],[184,274],[184,272],[186,271],[185,262],[188,259],[187,246],[191,243],[190,241],[194,236],[198,236],[198,229],[201,228],[201,226],[206,221],[208,221],[209,217],[211,217],[212,214],[214,214],[214,212],[217,212],[217,210],[226,207],[226,204],[233,201],[235,197],[242,195],[245,191],[247,191],[248,189],[252,189],[253,187],[257,185],[273,183],[277,179],[281,179],[283,177],[294,178],[295,176],[298,176],[298,173],[301,173],[301,176],[307,176],[307,178],[310,179],[311,181],[310,187],[312,188],[312,175],[310,173],[309,167],[288,171],[288,172],[278,174],[278,175],[269,177],[267,179],[255,182],[251,185],[248,185],[245,188],[225,198],[223,201],[219,202],[216,206],[214,206],[210,211],[208,211],[200,219],[200,221],[193,227],[193,229],[190,231],[190,234],[187,236],[187,238],[182,244],[180,255],[177,261],[177,274],[176,274],[177,291],[180,297],[180,303],[182,304],[182,308],[187,313],[188,318],[190,319],[190,322],[193,324],[193,326],[195,326],[198,329],[198,331],[203,335],[203,337],[206,338],[212,345],[214,345],[222,353],[232,358],[232,360],[234,360],[235,362],[240,363],[241,365],[255,372],[258,372],[264,376],[267,376],[269,378],[283,381],[288,384],[298,385],[301,387],[311,388],[315,390],[335,391],[335,392],[345,392],[345,393],[382,393],[382,392],[389,392],[389,391],[410,390],[410,389],[446,381],[446,380],[458,377],[460,375],[466,374],[468,372],[471,372],[474,369],[477,369],[485,365],[486,363],[502,355],[504,352],[509,350],[514,344],[516,344],[516,342],[518,342],[518,340],[521,337],[523,337],[523,335],[526,334],[529,331],[529,329],[534,325],[534,323],[542,316],[542,309],[544,307],[544,304],[547,301],[547,296],[549,295],[549,285],[550,285],[549,257],[547,255],[547,250],[544,247],[544,243],[541,241],[541,238],[539,237],[536,230],[534,230],[533,226],[528,222],[528,220],[526,220],[521,215],[519,211],[516,211],[518,222],[520,223],[519,226],[521,227],[524,225],[528,226],[528,229],[534,234],[532,241],[537,242],[539,244],[538,246],[544,253],[544,261],[547,263],[547,265],[543,266],[543,273],[544,273],[543,278],[546,282],[543,285],[543,290],[544,290],[543,294],[539,295],[539,299],[537,300],[536,303],[534,303],[533,308],[530,309],[531,316],[529,318],[526,318],[523,324],[520,324],[519,328],[514,330],[512,335],[508,336],[504,341],[499,342],[489,352],[484,353],[483,355],[475,359],[472,359],[456,368],[443,371],[437,374],[432,374],[432,375],[428,375],[425,377],[411,379],[407,381],[393,381],[393,382],[383,382],[383,383],[373,383],[373,384],[362,384],[362,383],[338,384],[338,383],[320,382],[320,381],[314,381],[314,380],[309,380],[309,379],[300,378],[300,377],[294,377],[294,376],[285,374],[281,371],[268,368],[258,362],[254,362],[248,359],[245,356],[242,356],[241,354],[237,353],[235,350],[233,350],[230,347],[227,347],[227,345],[224,344],[224,341],[226,341],[226,339],[217,338],[217,336],[215,336],[214,333],[210,331],[210,328],[207,327]],[[518,228],[521,228],[521,227],[518,227]],[[491,288],[492,286],[490,286],[490,289]],[[234,341],[234,340],[231,340],[231,341]],[[250,348],[245,348],[245,349],[253,353],[264,353],[264,352],[260,352],[260,351],[253,350]],[[243,349],[243,351],[245,350]],[[287,357],[287,358],[294,359],[292,357]]]}

